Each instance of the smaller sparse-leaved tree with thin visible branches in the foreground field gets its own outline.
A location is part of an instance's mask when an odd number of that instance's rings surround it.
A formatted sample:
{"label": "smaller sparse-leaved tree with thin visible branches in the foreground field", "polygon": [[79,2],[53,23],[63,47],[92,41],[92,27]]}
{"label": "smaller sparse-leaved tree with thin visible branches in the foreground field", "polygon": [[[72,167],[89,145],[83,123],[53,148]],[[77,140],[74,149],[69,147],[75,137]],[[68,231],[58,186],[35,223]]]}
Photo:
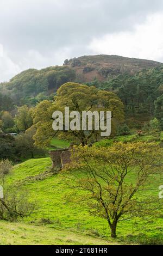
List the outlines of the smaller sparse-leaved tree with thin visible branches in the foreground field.
{"label": "smaller sparse-leaved tree with thin visible branches in the foreground field", "polygon": [[64,181],[73,189],[70,198],[83,207],[86,202],[91,214],[108,221],[111,237],[116,237],[120,221],[160,216],[161,200],[157,194],[149,197],[145,186],[152,182],[152,174],[162,172],[162,150],[157,144],[119,142],[109,148],[86,145],[74,147],[71,154],[72,162],[62,170]]}

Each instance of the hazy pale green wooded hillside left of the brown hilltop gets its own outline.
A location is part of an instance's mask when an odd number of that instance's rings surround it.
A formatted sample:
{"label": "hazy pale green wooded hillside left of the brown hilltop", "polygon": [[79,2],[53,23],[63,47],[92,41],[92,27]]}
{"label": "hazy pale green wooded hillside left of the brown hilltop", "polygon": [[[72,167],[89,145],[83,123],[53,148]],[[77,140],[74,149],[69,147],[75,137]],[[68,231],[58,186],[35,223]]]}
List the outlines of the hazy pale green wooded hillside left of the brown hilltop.
{"label": "hazy pale green wooded hillside left of the brown hilltop", "polygon": [[8,95],[16,105],[35,105],[46,99],[68,81],[73,81],[76,74],[68,66],[50,66],[46,69],[28,69],[9,82],[0,84],[0,93]]}

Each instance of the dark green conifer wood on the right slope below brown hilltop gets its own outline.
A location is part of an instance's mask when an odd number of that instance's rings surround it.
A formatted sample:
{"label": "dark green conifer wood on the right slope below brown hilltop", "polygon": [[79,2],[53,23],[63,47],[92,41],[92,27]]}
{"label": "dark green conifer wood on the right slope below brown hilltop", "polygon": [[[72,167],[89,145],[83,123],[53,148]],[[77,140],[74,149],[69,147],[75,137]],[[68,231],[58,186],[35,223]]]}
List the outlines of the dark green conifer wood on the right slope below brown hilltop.
{"label": "dark green conifer wood on the right slope below brown hilltop", "polygon": [[[163,66],[142,70],[135,75],[121,74],[96,86],[116,93],[124,103],[126,115],[143,121],[152,117],[160,120],[163,127]],[[131,119],[130,119],[131,121]]]}

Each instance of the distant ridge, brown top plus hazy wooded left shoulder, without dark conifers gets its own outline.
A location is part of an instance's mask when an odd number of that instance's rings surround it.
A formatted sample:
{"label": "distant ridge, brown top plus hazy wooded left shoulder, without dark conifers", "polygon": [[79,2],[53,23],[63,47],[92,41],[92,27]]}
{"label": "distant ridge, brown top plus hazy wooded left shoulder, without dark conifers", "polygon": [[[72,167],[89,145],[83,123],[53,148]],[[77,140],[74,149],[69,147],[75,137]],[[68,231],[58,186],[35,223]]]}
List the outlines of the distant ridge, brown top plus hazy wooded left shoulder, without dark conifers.
{"label": "distant ridge, brown top plus hazy wooded left shoulder, without dark conifers", "polygon": [[162,64],[152,60],[121,56],[83,56],[65,60],[62,66],[28,69],[0,84],[0,94],[9,96],[15,105],[35,105],[57,92],[66,82],[89,83],[109,81],[117,75],[135,75],[140,70],[158,68]]}

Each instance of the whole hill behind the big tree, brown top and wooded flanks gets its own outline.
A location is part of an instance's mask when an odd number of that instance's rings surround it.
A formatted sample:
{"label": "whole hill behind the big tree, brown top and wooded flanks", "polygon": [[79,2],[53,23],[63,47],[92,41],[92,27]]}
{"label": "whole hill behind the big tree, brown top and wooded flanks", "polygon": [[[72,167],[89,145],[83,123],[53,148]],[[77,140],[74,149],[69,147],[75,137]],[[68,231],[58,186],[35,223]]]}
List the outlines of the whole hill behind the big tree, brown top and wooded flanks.
{"label": "whole hill behind the big tree, brown top and wooded flanks", "polygon": [[16,107],[33,107],[42,100],[52,100],[66,82],[96,86],[117,94],[131,127],[140,129],[153,117],[163,125],[163,65],[120,56],[83,56],[65,60],[62,66],[23,71],[0,84],[0,111],[13,112]]}

